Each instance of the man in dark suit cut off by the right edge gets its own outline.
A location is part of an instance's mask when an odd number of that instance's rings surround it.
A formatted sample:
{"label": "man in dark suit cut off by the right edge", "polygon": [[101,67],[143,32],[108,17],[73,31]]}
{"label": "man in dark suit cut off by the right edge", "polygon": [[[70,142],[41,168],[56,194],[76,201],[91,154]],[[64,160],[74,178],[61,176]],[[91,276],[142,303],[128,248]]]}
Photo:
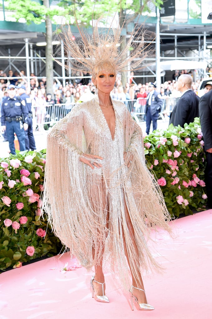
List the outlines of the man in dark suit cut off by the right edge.
{"label": "man in dark suit cut off by the right edge", "polygon": [[212,90],[200,98],[199,111],[206,153],[206,193],[208,196],[208,206],[212,208]]}

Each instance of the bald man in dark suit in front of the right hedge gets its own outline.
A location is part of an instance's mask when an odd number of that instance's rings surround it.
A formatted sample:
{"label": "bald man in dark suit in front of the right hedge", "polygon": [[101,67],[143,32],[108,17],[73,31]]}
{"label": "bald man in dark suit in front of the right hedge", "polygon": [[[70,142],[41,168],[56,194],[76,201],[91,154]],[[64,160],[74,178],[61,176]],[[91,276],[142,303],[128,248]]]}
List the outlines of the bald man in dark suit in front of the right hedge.
{"label": "bald man in dark suit in front of the right hedge", "polygon": [[184,127],[185,123],[189,124],[199,117],[199,96],[191,89],[192,81],[189,74],[179,76],[177,89],[182,95],[170,115],[169,124]]}

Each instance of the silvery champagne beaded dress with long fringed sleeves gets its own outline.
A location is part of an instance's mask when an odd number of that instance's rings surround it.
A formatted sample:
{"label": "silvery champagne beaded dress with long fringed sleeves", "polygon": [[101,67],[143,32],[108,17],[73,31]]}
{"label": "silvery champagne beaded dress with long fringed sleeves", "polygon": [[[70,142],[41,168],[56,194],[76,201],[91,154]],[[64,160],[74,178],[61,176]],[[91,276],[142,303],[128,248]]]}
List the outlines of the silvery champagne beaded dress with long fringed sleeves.
{"label": "silvery champagne beaded dress with long fringed sleeves", "polygon": [[[76,105],[53,126],[47,140],[43,209],[55,235],[83,266],[91,269],[98,264],[105,247],[104,260],[125,282],[128,266],[123,237],[136,272],[125,203],[143,270],[160,268],[148,249],[146,237],[149,229],[169,231],[170,215],[160,188],[145,165],[140,127],[123,103],[113,101],[113,108],[113,139],[97,96]],[[129,168],[124,164],[125,151],[125,161],[132,160]],[[103,157],[98,160],[102,167],[92,169],[83,164],[79,160],[82,153]]]}

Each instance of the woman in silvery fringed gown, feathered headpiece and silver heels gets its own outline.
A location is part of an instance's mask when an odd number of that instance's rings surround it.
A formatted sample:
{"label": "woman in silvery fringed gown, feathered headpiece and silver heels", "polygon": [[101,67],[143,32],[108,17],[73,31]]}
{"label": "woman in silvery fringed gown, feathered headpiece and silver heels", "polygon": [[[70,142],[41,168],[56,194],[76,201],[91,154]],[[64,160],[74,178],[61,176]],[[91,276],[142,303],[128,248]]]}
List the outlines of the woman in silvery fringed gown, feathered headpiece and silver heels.
{"label": "woman in silvery fringed gown, feathered headpiece and silver heels", "polygon": [[[71,39],[70,30],[66,39]],[[48,134],[43,210],[72,255],[88,270],[94,267],[95,300],[109,302],[102,270],[105,261],[125,287],[130,270],[132,308],[135,302],[140,310],[153,310],[141,269],[161,270],[161,266],[152,257],[146,237],[158,227],[170,232],[170,215],[145,165],[139,125],[122,102],[110,98],[117,71],[129,63],[121,60],[117,39],[117,35],[112,40],[98,39],[97,47],[84,39],[81,56],[77,44],[68,42],[70,56],[83,64],[84,71],[92,72],[97,94],[76,105]]]}

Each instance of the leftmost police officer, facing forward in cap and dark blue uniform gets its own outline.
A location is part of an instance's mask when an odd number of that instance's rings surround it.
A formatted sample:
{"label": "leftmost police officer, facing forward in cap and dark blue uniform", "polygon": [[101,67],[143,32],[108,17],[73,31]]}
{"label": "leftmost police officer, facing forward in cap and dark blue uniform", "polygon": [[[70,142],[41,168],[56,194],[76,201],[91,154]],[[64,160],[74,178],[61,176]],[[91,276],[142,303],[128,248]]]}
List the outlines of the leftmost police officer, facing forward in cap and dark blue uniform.
{"label": "leftmost police officer, facing forward in cap and dark blue uniform", "polygon": [[7,87],[9,96],[2,101],[1,106],[1,122],[3,131],[7,131],[7,139],[11,154],[15,154],[14,133],[16,134],[20,151],[25,151],[25,133],[27,130],[27,111],[21,104],[20,98],[16,96],[15,85],[10,84]]}

